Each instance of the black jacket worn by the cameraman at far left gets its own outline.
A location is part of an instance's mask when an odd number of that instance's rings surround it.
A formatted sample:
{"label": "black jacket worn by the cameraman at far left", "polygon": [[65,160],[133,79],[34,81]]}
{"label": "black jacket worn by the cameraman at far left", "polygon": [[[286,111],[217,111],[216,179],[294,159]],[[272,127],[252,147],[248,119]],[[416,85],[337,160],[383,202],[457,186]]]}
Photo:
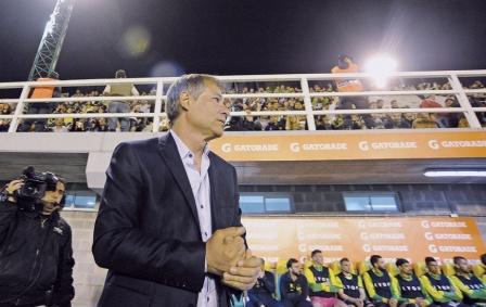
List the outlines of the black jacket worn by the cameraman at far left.
{"label": "black jacket worn by the cameraman at far left", "polygon": [[57,213],[42,221],[37,212],[0,203],[0,306],[10,298],[71,306],[73,267],[71,227]]}

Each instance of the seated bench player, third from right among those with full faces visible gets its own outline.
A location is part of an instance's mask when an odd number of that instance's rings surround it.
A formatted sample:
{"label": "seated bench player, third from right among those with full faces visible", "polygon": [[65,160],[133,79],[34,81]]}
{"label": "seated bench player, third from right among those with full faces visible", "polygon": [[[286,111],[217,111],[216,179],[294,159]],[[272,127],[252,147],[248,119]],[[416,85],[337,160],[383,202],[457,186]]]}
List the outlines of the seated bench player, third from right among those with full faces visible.
{"label": "seated bench player, third from right among those with full faces visible", "polygon": [[422,282],[413,274],[412,266],[404,258],[395,263],[400,273],[393,279],[395,295],[400,306],[426,307],[432,304]]}

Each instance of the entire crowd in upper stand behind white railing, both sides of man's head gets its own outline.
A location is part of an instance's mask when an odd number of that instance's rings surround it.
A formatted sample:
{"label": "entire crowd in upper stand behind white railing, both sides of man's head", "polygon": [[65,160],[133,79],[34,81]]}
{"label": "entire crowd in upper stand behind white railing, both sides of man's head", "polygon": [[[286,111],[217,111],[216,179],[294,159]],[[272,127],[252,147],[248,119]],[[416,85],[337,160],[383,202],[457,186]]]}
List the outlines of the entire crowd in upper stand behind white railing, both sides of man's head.
{"label": "entire crowd in upper stand behind white railing, both sides of man's head", "polygon": [[[481,81],[475,81],[471,89],[485,88]],[[421,82],[417,86],[399,86],[392,90],[448,90],[448,82],[439,85],[437,82]],[[332,84],[314,84],[310,87],[311,93],[332,92]],[[232,88],[227,91],[232,94],[252,94],[252,93],[302,93],[302,89],[292,86],[273,87],[243,87],[241,89]],[[154,91],[142,92],[140,100],[127,102],[128,113],[151,113],[154,111],[154,102],[144,100],[144,95],[154,95]],[[110,101],[97,101],[97,97],[106,95],[106,92],[92,90],[82,93],[76,90],[74,94],[64,92],[59,97],[87,97],[87,101],[63,102],[63,103],[41,103],[48,107],[52,114],[87,114],[87,113],[119,113],[112,112]],[[404,97],[405,98],[405,97]],[[417,97],[415,97],[417,98]],[[400,98],[386,101],[382,98],[361,98],[360,103],[345,103],[344,99],[333,97],[312,97],[311,107],[314,111],[325,110],[389,110],[389,108],[409,108],[409,107],[459,107],[455,95],[436,97],[434,94],[419,97],[418,105],[410,105],[407,101],[400,101]],[[440,100],[440,102],[438,101]],[[470,97],[473,106],[486,106],[486,94],[474,94]],[[308,129],[305,115],[269,115],[254,116],[253,112],[274,112],[274,111],[305,111],[303,98],[242,98],[226,101],[231,111],[245,112],[246,116],[233,116],[228,121],[227,131],[253,131],[253,130],[306,130]],[[39,104],[39,103],[30,103]],[[13,105],[8,103],[0,104],[0,114],[9,115],[13,112]],[[164,106],[163,106],[164,111]],[[25,111],[29,114],[29,108]],[[34,112],[34,114],[36,114]],[[486,127],[486,113],[476,113],[479,123]],[[112,125],[112,123],[115,125]],[[469,123],[462,113],[374,113],[374,114],[351,114],[351,115],[318,115],[315,116],[317,130],[356,130],[356,129],[413,129],[413,128],[463,128],[469,127]],[[9,129],[10,119],[0,119],[0,131]],[[168,120],[163,117],[158,131],[165,131],[169,128]],[[66,132],[66,131],[152,131],[152,117],[130,117],[130,118],[51,118],[51,119],[24,119],[18,123],[17,131],[38,131],[38,132]]]}

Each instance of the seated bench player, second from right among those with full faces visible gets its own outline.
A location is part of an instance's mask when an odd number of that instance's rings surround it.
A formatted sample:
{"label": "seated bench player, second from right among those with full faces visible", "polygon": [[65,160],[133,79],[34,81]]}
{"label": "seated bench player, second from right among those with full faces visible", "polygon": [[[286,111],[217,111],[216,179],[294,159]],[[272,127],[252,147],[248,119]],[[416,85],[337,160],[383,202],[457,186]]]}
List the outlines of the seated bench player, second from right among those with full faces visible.
{"label": "seated bench player, second from right among those with full faces visible", "polygon": [[427,272],[420,278],[423,287],[434,302],[435,306],[443,307],[465,307],[461,304],[462,294],[452,281],[440,273],[440,267],[433,257],[425,258]]}

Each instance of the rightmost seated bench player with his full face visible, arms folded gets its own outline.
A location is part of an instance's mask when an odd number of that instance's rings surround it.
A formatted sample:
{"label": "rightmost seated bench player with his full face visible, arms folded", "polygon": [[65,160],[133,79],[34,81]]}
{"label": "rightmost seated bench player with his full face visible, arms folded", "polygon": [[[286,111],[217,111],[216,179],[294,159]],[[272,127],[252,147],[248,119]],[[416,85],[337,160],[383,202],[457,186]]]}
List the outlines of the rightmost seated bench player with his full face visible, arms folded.
{"label": "rightmost seated bench player with his full face visible, arms folded", "polygon": [[462,292],[463,303],[466,305],[476,305],[486,303],[486,286],[473,273],[471,267],[464,257],[453,257],[456,274],[450,279],[453,284]]}

